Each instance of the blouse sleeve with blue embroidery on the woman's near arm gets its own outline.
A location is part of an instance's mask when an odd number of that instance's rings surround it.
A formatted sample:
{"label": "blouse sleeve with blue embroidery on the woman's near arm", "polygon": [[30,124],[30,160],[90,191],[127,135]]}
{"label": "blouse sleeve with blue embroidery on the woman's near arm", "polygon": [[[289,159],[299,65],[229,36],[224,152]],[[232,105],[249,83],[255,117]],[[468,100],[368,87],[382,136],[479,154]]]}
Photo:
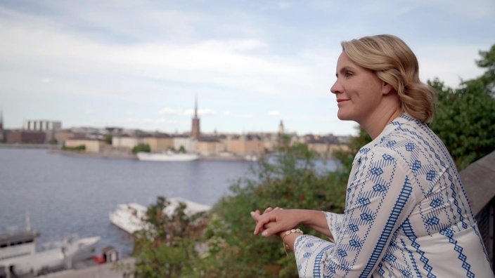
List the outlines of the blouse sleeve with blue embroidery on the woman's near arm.
{"label": "blouse sleeve with blue embroidery on the woman's near arm", "polygon": [[345,212],[326,213],[335,244],[311,235],[295,241],[300,277],[370,277],[416,204],[411,170],[389,149],[354,160]]}

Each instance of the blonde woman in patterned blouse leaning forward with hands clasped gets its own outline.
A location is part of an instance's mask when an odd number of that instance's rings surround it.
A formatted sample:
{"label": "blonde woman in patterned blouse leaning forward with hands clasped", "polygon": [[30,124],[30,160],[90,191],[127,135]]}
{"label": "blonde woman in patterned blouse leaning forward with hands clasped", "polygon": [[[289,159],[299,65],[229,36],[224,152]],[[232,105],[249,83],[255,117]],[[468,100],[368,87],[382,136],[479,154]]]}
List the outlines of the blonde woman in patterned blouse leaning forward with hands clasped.
{"label": "blonde woman in patterned blouse leaning forward with hands clasped", "polygon": [[494,277],[454,161],[426,125],[435,91],[409,46],[391,35],[342,42],[336,76],[339,119],[373,139],[354,157],[345,212],[253,211],[255,234],[280,236],[300,277]]}

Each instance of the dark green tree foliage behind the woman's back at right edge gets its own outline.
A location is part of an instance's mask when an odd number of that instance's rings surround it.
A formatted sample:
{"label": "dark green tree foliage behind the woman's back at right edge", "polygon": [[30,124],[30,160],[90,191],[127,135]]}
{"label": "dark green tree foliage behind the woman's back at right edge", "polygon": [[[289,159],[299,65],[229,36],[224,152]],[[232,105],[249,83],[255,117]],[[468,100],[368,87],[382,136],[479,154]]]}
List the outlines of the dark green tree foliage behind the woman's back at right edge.
{"label": "dark green tree foliage behind the woman's back at right edge", "polygon": [[477,65],[487,72],[453,89],[435,79],[429,84],[438,93],[435,119],[430,124],[451,153],[459,171],[495,150],[495,99],[490,88],[495,82],[495,45],[480,51]]}

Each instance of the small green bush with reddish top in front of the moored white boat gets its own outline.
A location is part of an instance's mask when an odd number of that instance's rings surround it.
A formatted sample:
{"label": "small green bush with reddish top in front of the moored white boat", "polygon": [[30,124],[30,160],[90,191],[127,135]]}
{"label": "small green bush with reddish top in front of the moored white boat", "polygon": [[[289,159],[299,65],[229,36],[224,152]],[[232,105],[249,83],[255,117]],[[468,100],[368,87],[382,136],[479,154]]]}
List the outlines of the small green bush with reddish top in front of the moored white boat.
{"label": "small green bush with reddish top in front of the moored white boat", "polygon": [[146,211],[146,228],[134,234],[135,277],[187,277],[199,260],[196,249],[204,213],[188,216],[185,204],[167,213],[169,204],[158,197]]}

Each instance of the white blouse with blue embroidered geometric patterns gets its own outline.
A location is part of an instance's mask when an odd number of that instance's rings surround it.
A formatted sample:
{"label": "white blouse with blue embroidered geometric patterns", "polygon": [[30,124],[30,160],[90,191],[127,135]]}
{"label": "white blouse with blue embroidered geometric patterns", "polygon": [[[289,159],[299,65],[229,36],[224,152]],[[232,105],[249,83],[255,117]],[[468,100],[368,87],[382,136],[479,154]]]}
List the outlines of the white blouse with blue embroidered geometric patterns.
{"label": "white blouse with blue embroidered geometric patterns", "polygon": [[295,245],[300,277],[494,277],[456,166],[428,126],[401,115],[354,157],[335,243]]}

